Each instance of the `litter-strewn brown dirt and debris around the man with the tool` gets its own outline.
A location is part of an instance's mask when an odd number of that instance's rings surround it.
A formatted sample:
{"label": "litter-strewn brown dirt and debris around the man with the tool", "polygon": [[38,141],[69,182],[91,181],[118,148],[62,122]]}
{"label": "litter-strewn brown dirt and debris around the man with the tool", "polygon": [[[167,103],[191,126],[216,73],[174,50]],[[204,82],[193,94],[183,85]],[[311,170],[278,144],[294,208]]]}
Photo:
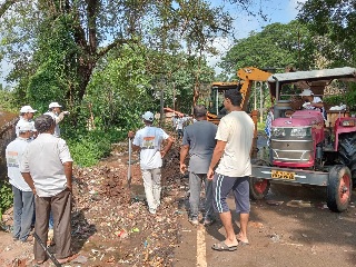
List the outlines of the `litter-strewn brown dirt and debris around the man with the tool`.
{"label": "litter-strewn brown dirt and debris around the man with the tool", "polygon": [[[127,152],[97,167],[75,168],[72,245],[80,258],[72,266],[171,266],[174,248],[180,243],[177,221],[185,214],[178,204],[187,186],[179,174],[179,148],[174,147],[165,158],[162,200],[155,216],[147,210],[137,158],[135,154],[130,188]],[[17,261],[33,258],[30,245],[26,251]],[[2,264],[12,266],[11,261],[13,257]]]}

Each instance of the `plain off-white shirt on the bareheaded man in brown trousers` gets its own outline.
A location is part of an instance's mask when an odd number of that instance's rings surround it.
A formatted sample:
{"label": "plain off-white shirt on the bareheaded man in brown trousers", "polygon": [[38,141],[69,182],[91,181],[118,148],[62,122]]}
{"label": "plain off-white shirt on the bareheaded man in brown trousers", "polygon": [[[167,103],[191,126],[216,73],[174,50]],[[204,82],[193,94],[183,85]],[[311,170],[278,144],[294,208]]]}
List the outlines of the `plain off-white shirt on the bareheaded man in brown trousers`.
{"label": "plain off-white shirt on the bareheaded man in brown trousers", "polygon": [[21,172],[30,172],[39,197],[52,197],[67,188],[63,164],[73,161],[66,141],[40,134],[24,150]]}

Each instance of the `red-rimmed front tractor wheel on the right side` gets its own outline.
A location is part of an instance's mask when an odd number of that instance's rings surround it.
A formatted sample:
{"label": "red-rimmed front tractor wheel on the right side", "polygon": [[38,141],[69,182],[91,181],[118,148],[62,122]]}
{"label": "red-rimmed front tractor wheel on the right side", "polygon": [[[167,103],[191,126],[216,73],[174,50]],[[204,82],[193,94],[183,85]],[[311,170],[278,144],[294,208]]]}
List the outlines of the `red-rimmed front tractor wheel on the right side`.
{"label": "red-rimmed front tractor wheel on the right side", "polygon": [[335,212],[347,209],[352,197],[352,174],[346,166],[337,165],[329,170],[327,207]]}

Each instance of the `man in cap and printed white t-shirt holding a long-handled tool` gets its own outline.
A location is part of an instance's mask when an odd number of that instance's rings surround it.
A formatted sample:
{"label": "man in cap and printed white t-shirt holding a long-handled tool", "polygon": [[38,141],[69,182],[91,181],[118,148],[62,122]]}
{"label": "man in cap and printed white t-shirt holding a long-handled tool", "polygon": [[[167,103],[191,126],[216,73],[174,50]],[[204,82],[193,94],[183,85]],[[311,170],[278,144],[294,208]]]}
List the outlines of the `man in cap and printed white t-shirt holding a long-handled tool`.
{"label": "man in cap and printed white t-shirt holding a long-handled tool", "polygon": [[[150,214],[156,214],[156,210],[160,205],[160,168],[162,166],[162,158],[174,144],[174,139],[162,129],[152,126],[155,119],[152,112],[145,112],[142,119],[145,128],[138,130],[136,135],[134,131],[129,131],[128,137],[135,137],[132,150],[140,149],[140,167],[148,210]],[[161,149],[164,140],[167,140],[167,145]]]}

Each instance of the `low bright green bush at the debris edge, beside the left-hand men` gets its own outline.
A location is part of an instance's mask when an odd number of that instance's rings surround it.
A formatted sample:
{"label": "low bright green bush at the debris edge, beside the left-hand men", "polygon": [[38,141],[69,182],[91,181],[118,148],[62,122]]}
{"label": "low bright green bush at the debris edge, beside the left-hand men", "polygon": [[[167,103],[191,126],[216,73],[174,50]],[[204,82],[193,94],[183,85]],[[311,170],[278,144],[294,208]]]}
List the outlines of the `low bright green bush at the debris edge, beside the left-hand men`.
{"label": "low bright green bush at the debris edge, beside the left-hand men", "polygon": [[65,139],[69,146],[75,165],[90,167],[110,155],[111,144],[126,138],[127,131],[110,129],[82,132]]}

